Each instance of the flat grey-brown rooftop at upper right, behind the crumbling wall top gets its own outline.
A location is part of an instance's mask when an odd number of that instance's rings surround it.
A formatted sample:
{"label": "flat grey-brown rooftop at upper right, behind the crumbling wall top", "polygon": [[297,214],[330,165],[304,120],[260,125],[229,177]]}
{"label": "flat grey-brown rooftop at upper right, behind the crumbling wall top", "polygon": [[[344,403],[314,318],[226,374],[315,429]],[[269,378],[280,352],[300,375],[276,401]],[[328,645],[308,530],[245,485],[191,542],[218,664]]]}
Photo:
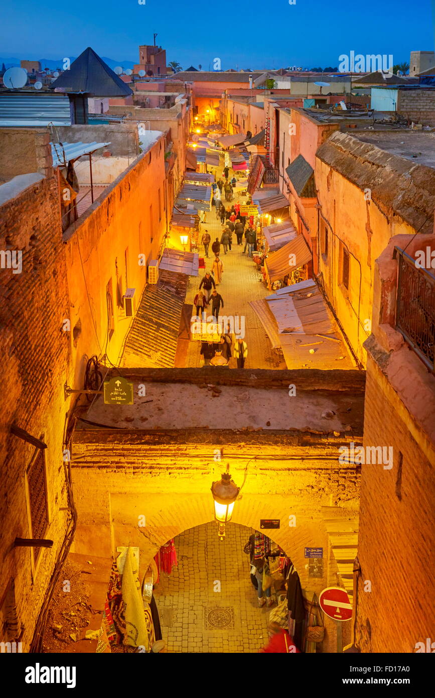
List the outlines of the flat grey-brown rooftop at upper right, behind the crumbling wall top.
{"label": "flat grey-brown rooftop at upper right, behind the crumbling wall top", "polygon": [[435,132],[375,131],[358,133],[358,140],[372,143],[392,155],[435,169]]}

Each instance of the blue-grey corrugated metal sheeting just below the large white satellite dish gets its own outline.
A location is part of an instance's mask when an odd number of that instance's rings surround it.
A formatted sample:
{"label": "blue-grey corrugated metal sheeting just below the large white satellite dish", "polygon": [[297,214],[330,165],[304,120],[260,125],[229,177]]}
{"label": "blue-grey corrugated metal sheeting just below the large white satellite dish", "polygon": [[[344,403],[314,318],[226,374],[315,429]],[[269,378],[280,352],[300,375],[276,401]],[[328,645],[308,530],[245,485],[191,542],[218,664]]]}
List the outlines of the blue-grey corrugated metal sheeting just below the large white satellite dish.
{"label": "blue-grey corrugated metal sheeting just below the large white satellite dish", "polygon": [[0,94],[0,126],[70,126],[70,101],[48,92]]}

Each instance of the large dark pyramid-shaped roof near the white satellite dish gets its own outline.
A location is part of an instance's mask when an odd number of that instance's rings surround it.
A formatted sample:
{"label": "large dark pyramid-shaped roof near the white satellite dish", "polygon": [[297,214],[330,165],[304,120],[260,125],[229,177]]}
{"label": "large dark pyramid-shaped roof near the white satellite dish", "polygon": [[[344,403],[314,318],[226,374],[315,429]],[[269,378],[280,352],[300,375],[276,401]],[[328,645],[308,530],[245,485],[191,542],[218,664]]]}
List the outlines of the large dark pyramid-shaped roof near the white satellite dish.
{"label": "large dark pyramid-shaped roof near the white satellite dish", "polygon": [[90,46],[75,59],[69,70],[64,70],[52,82],[51,87],[66,92],[86,92],[96,97],[127,97],[133,94],[130,87]]}

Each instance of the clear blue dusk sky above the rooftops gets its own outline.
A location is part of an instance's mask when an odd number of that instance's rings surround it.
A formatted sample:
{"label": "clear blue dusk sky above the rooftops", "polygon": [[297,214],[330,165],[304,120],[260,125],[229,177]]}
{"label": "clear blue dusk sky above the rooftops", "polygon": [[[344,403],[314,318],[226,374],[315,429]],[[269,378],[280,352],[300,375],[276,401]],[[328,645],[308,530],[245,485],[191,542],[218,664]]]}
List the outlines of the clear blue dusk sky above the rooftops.
{"label": "clear blue dusk sky above the rooftops", "polygon": [[156,42],[167,60],[213,69],[337,66],[340,54],[434,50],[434,0],[59,0],[3,3],[1,57],[59,59],[91,46],[120,63]]}

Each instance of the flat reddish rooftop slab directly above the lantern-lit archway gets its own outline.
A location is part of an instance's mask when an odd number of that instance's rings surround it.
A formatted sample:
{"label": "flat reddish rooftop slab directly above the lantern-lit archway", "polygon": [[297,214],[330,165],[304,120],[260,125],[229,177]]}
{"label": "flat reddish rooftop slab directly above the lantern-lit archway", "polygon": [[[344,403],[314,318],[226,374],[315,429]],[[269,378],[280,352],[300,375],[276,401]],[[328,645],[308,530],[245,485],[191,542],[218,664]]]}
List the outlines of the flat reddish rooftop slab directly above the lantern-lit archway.
{"label": "flat reddish rooftop slab directly above the lantern-lit archway", "polygon": [[[139,370],[139,369],[137,369]],[[169,369],[170,370],[170,369]],[[174,369],[176,370],[176,369]],[[138,429],[144,431],[174,431],[184,429],[210,429],[227,431],[298,431],[328,434],[334,431],[347,436],[363,433],[364,392],[363,376],[358,375],[354,389],[303,389],[305,371],[289,371],[293,375],[296,394],[289,395],[286,387],[254,386],[263,383],[257,378],[259,371],[245,371],[243,383],[237,385],[234,369],[197,369],[201,383],[154,382],[140,378],[125,378],[134,385],[133,405],[106,405],[101,396],[83,415],[94,424],[109,429]],[[234,383],[231,382],[234,373]],[[119,372],[121,373],[121,371]],[[264,371],[263,373],[268,373]],[[280,371],[284,373],[284,371]],[[352,373],[357,371],[318,371],[318,373]],[[170,374],[169,374],[170,375]],[[206,382],[204,382],[204,377]],[[208,378],[212,376],[212,378]],[[213,380],[222,377],[224,383]],[[251,376],[254,376],[251,378]],[[298,378],[299,376],[299,378]],[[344,380],[351,380],[351,376]],[[145,386],[144,396],[138,396],[139,385]],[[142,389],[143,392],[143,389]],[[79,429],[89,429],[86,422]],[[338,435],[338,434],[337,434]]]}

